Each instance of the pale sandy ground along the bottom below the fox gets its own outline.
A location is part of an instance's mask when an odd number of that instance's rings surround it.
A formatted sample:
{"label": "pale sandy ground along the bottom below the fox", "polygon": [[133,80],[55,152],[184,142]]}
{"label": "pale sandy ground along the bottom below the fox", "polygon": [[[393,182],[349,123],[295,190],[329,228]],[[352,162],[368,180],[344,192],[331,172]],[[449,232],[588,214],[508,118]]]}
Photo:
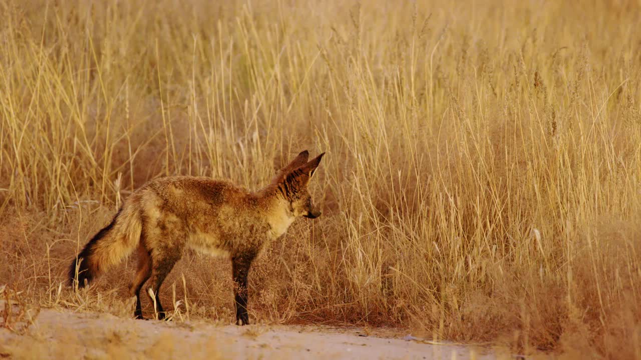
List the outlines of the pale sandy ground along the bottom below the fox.
{"label": "pale sandy ground along the bottom below the fox", "polygon": [[[25,318],[28,318],[26,316]],[[387,336],[387,337],[385,337]],[[390,337],[391,336],[391,337]],[[497,350],[394,332],[157,322],[42,309],[26,333],[0,329],[9,359],[496,359]],[[507,356],[506,358],[514,358]]]}

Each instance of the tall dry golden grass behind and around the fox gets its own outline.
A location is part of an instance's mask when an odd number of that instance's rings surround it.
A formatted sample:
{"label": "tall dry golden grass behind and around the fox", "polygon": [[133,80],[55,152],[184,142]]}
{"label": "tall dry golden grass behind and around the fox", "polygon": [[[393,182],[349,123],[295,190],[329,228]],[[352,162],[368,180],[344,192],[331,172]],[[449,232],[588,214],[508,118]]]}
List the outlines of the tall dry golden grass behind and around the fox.
{"label": "tall dry golden grass behind and around the fox", "polygon": [[[310,149],[324,215],[253,269],[259,321],[641,359],[638,1],[223,3],[0,1],[8,286],[127,315],[131,261],[60,282],[129,192]],[[187,254],[162,299],[231,321],[229,272]]]}

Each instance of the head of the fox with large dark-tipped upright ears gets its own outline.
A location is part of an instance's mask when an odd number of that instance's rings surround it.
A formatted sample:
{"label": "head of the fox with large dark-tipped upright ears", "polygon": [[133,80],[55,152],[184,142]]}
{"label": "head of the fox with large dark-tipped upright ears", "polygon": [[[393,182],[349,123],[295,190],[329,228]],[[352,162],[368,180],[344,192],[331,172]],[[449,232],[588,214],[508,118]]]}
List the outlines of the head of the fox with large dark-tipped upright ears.
{"label": "head of the fox with large dark-tipped upright ears", "polygon": [[272,180],[278,193],[289,202],[289,211],[294,217],[317,218],[320,216],[320,210],[314,206],[307,185],[324,154],[323,152],[307,161],[310,153],[303,151],[287,166],[281,168]]}

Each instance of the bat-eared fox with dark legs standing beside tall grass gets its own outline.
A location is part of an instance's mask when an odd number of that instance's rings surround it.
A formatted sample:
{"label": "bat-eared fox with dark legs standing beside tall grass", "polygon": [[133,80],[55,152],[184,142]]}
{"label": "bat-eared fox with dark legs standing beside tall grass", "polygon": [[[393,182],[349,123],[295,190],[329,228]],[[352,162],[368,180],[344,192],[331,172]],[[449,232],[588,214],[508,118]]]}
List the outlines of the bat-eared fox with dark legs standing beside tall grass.
{"label": "bat-eared fox with dark legs standing beside tall grass", "polygon": [[[144,319],[140,291],[165,319],[158,294],[165,277],[186,249],[231,259],[237,325],[247,325],[247,275],[265,247],[285,234],[299,217],[321,211],[308,191],[324,152],[308,161],[303,151],[276,172],[267,186],[250,192],[228,180],[171,176],[153,179],[131,193],[112,222],[88,241],[69,267],[69,281],[83,288],[97,275],[137,252],[137,272],[129,293],[133,316]],[[150,280],[151,279],[151,280]]]}

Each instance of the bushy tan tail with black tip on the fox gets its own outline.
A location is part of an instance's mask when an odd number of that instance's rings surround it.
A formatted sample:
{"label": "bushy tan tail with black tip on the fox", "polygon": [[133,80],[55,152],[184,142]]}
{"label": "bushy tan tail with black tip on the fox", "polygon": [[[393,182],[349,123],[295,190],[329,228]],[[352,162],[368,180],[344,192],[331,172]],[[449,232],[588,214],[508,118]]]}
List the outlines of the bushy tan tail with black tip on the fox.
{"label": "bushy tan tail with black tip on the fox", "polygon": [[74,284],[78,275],[78,288],[82,288],[100,272],[119,263],[136,249],[141,232],[140,214],[134,206],[125,205],[72,261],[69,267],[71,284]]}

